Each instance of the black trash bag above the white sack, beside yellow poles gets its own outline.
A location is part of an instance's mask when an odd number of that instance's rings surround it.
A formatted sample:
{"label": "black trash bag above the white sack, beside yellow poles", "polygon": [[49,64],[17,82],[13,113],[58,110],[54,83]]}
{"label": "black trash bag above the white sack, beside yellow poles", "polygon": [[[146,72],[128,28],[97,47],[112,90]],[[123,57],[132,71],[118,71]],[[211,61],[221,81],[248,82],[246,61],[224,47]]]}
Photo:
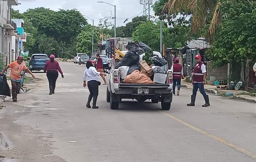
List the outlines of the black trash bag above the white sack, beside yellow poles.
{"label": "black trash bag above the white sack, beside yellow poles", "polygon": [[131,66],[139,62],[140,56],[136,53],[135,50],[128,51],[125,56],[116,63],[116,68],[120,66]]}

